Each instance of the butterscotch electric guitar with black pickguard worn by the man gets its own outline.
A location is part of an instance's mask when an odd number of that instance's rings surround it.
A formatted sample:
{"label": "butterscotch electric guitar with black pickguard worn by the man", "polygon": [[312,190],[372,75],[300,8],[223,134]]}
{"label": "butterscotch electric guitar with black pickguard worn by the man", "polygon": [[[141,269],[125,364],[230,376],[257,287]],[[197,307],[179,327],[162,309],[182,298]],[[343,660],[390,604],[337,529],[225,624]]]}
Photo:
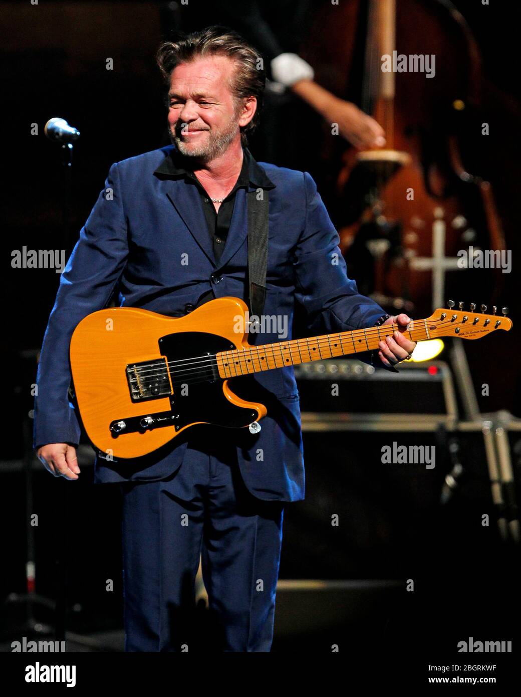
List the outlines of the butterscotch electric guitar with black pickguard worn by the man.
{"label": "butterscotch electric guitar with black pickguard worn by the man", "polygon": [[[506,316],[461,307],[412,320],[403,333],[414,342],[480,339],[512,327]],[[481,308],[484,312],[486,306]],[[396,330],[382,325],[252,346],[247,310],[240,298],[229,297],[179,318],[111,307],[81,320],[70,341],[70,365],[77,406],[93,445],[125,459],[157,450],[194,424],[255,432],[267,409],[235,395],[230,378],[371,351]],[[502,312],[506,315],[506,307]]]}

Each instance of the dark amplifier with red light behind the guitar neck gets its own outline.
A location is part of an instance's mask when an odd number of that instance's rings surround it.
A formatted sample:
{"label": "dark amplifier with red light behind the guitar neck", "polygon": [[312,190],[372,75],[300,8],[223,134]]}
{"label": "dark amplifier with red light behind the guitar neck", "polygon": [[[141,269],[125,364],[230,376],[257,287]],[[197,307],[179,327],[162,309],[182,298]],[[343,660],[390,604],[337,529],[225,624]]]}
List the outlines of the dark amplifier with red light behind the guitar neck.
{"label": "dark amplifier with red light behind the guitar neck", "polygon": [[457,418],[456,394],[446,362],[403,362],[398,370],[375,370],[352,358],[296,365],[301,411]]}

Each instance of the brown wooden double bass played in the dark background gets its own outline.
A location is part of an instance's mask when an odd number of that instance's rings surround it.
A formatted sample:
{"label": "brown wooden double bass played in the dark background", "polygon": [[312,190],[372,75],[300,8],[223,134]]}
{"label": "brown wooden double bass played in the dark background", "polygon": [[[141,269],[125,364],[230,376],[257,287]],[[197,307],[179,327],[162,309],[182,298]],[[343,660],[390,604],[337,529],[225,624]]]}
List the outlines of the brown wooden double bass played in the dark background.
{"label": "brown wooden double bass played in the dark background", "polygon": [[324,126],[322,190],[361,292],[405,312],[429,312],[446,293],[468,297],[474,287],[497,300],[501,269],[465,268],[468,254],[505,241],[490,183],[464,164],[486,135],[481,60],[462,15],[437,0],[351,0],[324,6],[313,29],[320,35],[303,56],[317,82],[358,103],[386,135],[384,146],[357,151]]}

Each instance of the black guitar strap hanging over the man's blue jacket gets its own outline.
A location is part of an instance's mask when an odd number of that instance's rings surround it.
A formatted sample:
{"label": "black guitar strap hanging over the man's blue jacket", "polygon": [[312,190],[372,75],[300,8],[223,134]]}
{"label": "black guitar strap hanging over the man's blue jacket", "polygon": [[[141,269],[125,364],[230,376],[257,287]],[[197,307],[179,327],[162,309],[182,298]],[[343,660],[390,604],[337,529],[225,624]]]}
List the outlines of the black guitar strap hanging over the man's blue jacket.
{"label": "black guitar strap hanging over the man's blue jacket", "polygon": [[258,190],[248,193],[248,285],[249,311],[260,317],[266,298],[267,231],[270,192]]}

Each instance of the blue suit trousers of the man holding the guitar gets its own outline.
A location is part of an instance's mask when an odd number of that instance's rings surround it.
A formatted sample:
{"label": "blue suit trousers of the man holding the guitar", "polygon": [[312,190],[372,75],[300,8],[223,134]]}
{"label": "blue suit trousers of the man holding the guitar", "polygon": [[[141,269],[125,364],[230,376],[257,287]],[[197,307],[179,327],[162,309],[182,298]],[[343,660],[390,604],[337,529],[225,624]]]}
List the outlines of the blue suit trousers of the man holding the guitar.
{"label": "blue suit trousers of the man holding the guitar", "polygon": [[173,475],[119,484],[125,651],[270,651],[284,502],[253,496],[235,445],[206,429]]}

